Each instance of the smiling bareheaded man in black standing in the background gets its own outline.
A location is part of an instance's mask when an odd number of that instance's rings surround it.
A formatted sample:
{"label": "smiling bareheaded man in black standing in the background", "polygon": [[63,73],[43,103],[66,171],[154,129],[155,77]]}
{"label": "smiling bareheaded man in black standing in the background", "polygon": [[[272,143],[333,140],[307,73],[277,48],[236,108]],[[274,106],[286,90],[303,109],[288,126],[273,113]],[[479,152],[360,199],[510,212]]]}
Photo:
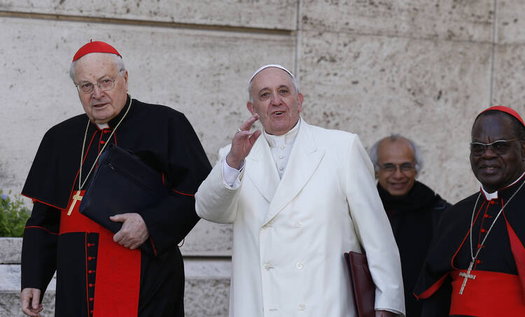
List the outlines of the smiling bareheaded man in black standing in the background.
{"label": "smiling bareheaded man in black standing in the background", "polygon": [[392,134],[374,143],[369,155],[378,180],[377,191],[399,248],[407,317],[421,316],[421,302],[412,290],[437,221],[450,204],[416,181],[423,160],[411,140]]}

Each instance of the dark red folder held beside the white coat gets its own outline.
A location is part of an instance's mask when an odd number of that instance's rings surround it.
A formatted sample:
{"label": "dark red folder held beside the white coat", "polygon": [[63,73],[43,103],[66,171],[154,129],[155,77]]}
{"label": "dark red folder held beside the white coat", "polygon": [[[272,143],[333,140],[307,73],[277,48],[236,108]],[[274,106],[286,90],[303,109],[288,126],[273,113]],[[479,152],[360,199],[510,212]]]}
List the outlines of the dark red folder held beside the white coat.
{"label": "dark red folder held beside the white coat", "polygon": [[358,317],[374,317],[375,284],[368,269],[366,255],[350,251],[344,253],[350,277],[353,304]]}

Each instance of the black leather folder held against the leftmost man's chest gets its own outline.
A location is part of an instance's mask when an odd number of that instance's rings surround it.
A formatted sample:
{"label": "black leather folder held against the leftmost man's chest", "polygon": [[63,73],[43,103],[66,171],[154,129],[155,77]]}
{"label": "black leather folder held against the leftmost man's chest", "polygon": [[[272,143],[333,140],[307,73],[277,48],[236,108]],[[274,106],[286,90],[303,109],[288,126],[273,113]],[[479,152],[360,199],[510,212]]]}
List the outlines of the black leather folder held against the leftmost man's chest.
{"label": "black leather folder held against the leftmost man's chest", "polygon": [[[122,223],[109,220],[118,213],[136,213],[169,195],[162,175],[137,155],[108,144],[99,157],[97,169],[85,190],[79,211],[111,232]],[[148,245],[148,246],[146,246]],[[146,251],[153,251],[144,243]]]}

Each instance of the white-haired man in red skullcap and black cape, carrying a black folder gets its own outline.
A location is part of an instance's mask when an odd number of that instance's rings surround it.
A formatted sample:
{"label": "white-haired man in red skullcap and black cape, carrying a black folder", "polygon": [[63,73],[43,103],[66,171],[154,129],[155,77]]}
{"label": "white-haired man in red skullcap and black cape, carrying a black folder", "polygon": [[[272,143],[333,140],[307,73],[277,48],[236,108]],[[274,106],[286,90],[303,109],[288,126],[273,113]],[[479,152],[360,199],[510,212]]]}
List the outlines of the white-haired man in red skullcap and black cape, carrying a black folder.
{"label": "white-haired man in red skullcap and black cape, carrying a black folder", "polygon": [[[45,133],[22,190],[34,202],[22,246],[22,311],[40,316],[56,271],[55,316],[184,316],[177,243],[199,220],[193,195],[211,169],[200,141],[182,113],[127,94],[128,74],[111,45],[80,48],[70,76],[85,114]],[[171,190],[146,209],[111,217],[122,223],[116,234],[78,212],[108,143],[162,173]]]}

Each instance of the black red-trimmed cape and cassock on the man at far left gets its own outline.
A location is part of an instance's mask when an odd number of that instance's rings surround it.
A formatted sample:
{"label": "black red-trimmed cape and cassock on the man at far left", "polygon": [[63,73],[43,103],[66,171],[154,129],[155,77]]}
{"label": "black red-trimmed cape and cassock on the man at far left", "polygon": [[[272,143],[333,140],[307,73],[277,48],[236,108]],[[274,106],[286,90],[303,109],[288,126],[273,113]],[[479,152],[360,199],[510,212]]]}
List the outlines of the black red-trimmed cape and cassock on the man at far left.
{"label": "black red-trimmed cape and cassock on the man at far left", "polygon": [[[78,213],[78,202],[68,218],[73,192],[78,190],[88,119],[85,114],[77,115],[55,125],[43,137],[22,190],[22,195],[34,201],[22,246],[22,289],[38,288],[43,296],[56,270],[55,316],[184,315],[184,269],[177,244],[199,220],[193,195],[211,166],[190,122],[183,113],[166,106],[132,99],[130,110],[109,140],[129,102],[130,97],[109,128],[90,123],[82,181],[106,142],[130,150],[162,173],[172,195],[138,211],[150,234],[145,244],[151,244],[155,253],[130,251],[114,243],[109,230],[97,230],[96,224]],[[69,229],[64,230],[66,224]],[[83,226],[86,229],[79,230]],[[118,252],[113,255],[108,250]],[[123,262],[120,252],[132,253],[135,262],[113,265],[113,260]],[[125,283],[114,285],[112,278],[119,274]],[[136,281],[125,279],[126,274]],[[138,294],[137,299],[130,301],[119,290]],[[102,302],[113,305],[111,312]],[[130,315],[129,307],[136,313]]]}

